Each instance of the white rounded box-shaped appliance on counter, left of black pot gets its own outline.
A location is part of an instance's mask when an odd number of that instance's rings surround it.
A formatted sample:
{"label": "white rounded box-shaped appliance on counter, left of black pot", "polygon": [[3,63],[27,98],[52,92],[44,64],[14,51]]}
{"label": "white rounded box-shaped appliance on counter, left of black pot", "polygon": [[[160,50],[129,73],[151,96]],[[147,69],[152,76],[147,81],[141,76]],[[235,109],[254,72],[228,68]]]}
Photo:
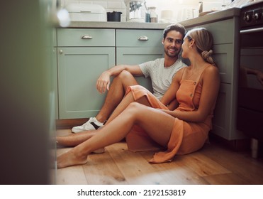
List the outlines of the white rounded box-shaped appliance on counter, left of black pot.
{"label": "white rounded box-shaped appliance on counter, left of black pot", "polygon": [[106,10],[101,5],[72,3],[65,9],[71,21],[107,21]]}

